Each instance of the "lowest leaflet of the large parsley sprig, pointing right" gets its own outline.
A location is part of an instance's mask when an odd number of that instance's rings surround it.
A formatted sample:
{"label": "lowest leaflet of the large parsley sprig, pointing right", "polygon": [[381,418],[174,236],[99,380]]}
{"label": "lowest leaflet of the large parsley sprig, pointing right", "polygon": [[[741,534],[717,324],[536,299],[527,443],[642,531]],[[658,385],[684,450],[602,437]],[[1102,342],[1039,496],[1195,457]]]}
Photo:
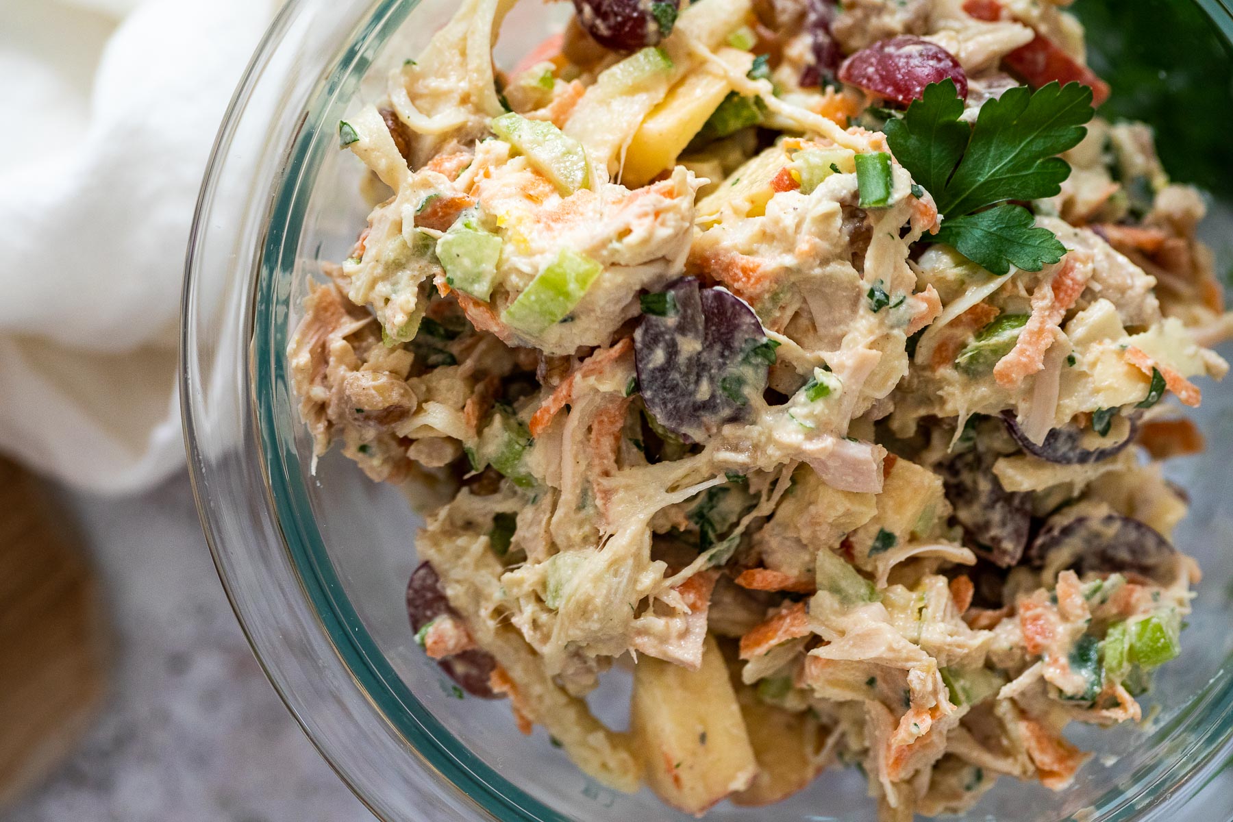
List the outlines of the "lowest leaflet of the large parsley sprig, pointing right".
{"label": "lowest leaflet of the large parsley sprig, pointing right", "polygon": [[1004,275],[1016,265],[1039,271],[1060,260],[1067,248],[1047,228],[1038,228],[1022,206],[1002,203],[988,211],[943,221],[933,235],[993,274]]}

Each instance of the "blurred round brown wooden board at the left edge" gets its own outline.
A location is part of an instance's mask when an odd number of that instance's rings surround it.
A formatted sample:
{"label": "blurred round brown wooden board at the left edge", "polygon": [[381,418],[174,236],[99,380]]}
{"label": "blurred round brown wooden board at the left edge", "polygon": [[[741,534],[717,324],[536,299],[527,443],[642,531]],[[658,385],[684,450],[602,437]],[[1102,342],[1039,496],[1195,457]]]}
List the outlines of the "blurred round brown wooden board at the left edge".
{"label": "blurred round brown wooden board at the left edge", "polygon": [[68,518],[0,457],[0,806],[46,776],[105,691],[109,631]]}

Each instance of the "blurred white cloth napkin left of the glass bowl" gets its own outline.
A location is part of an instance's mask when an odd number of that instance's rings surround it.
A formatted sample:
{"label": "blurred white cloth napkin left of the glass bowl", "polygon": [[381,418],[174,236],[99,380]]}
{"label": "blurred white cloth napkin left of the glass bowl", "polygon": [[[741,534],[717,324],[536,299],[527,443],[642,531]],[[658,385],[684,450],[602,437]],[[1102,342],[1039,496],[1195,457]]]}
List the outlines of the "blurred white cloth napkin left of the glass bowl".
{"label": "blurred white cloth napkin left of the glass bowl", "polygon": [[184,465],[185,245],[271,0],[0,0],[0,451],[132,492]]}

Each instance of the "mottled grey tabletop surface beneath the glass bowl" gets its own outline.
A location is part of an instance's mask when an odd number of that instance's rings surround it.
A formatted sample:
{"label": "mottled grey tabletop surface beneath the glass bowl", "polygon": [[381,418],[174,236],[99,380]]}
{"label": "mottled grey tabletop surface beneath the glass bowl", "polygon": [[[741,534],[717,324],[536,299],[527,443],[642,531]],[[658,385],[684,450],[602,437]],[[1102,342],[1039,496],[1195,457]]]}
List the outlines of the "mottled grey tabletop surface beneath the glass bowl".
{"label": "mottled grey tabletop surface beneath the glass bowl", "polygon": [[[187,479],[64,498],[118,633],[111,693],[78,753],[0,822],[372,822],[254,661]],[[1233,774],[1169,820],[1233,820]]]}

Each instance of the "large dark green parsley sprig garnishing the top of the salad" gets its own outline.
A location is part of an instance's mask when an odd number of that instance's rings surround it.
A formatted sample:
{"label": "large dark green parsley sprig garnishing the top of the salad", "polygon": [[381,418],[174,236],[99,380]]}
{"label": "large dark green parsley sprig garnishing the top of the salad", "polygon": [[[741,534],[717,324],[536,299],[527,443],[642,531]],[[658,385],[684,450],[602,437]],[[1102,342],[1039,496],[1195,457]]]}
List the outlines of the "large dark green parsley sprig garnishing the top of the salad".
{"label": "large dark green parsley sprig garnishing the top of the salad", "polygon": [[943,80],[926,86],[885,132],[895,158],[942,213],[932,240],[1002,275],[1011,265],[1039,271],[1067,253],[1031,212],[1006,201],[1059,193],[1070,165],[1057,155],[1079,144],[1094,113],[1090,87],[1051,83],[1034,92],[1007,90],[985,102],[969,126],[959,120],[963,100],[954,83]]}

